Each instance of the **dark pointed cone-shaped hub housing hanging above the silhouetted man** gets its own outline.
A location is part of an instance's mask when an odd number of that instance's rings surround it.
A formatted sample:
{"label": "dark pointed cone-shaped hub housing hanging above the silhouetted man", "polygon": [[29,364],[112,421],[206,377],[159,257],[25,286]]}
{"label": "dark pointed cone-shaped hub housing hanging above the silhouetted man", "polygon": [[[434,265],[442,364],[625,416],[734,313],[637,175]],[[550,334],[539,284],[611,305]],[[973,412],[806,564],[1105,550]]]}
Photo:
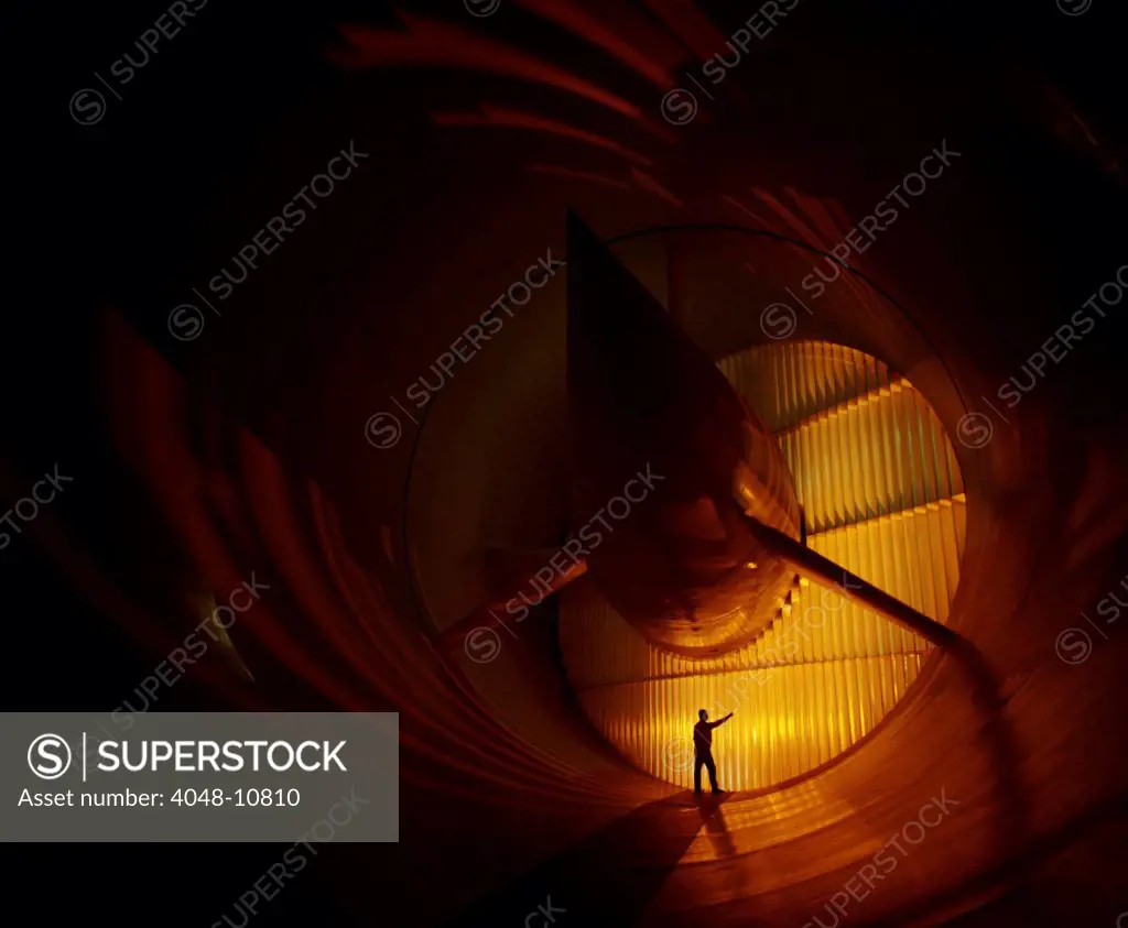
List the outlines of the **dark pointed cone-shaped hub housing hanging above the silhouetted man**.
{"label": "dark pointed cone-shaped hub housing hanging above the silhouetted man", "polygon": [[[591,580],[668,651],[707,657],[755,639],[796,572],[748,516],[799,538],[787,466],[713,361],[575,215],[567,380],[573,537],[587,539]],[[646,481],[627,487],[640,472]]]}

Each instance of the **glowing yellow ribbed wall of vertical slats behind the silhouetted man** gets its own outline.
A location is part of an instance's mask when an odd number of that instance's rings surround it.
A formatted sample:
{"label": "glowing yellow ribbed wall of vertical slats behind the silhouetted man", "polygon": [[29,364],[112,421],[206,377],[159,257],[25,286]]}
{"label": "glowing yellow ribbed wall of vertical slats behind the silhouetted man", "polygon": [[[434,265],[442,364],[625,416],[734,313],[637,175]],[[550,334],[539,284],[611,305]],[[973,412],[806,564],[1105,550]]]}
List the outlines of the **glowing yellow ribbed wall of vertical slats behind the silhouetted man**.
{"label": "glowing yellow ribbed wall of vertical slats behind the silhouetted man", "polygon": [[[966,531],[951,443],[924,398],[873,357],[825,343],[756,347],[720,364],[772,423],[808,513],[808,543],[941,621]],[[697,709],[721,785],[755,789],[826,763],[871,732],[929,645],[803,581],[754,644],[693,661],[647,645],[589,584],[561,598],[561,647],[592,723],[633,763],[693,784]]]}

